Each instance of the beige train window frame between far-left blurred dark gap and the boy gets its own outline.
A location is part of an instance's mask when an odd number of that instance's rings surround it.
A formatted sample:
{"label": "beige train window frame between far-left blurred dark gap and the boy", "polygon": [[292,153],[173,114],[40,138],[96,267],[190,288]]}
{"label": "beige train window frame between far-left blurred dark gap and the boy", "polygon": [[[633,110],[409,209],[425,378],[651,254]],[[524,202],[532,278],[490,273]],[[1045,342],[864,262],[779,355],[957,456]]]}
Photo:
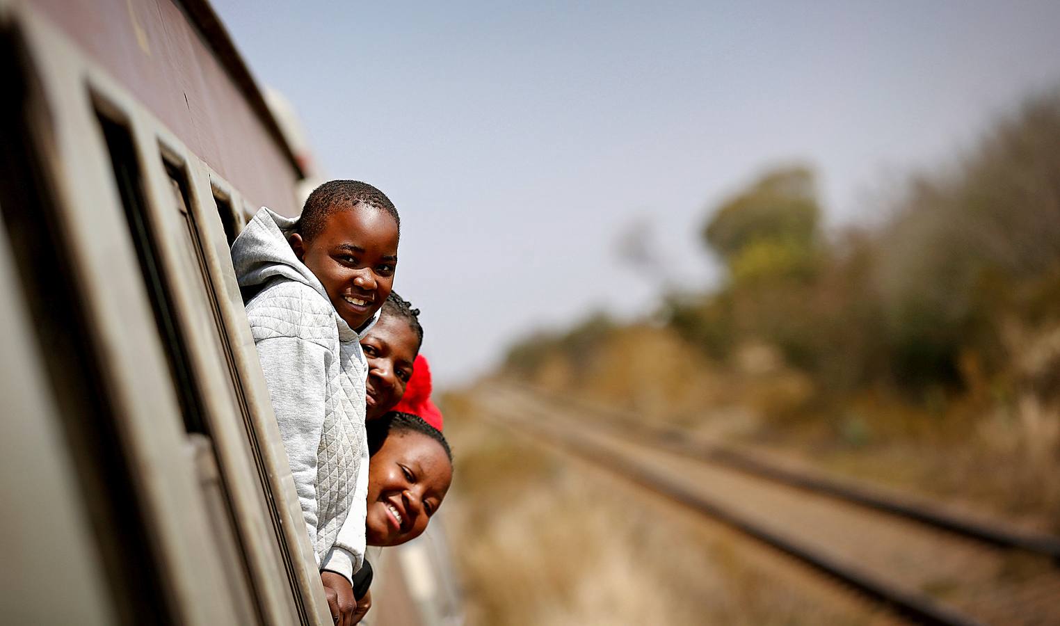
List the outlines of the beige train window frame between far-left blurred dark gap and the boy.
{"label": "beige train window frame between far-left blurred dark gap and the boy", "polygon": [[[136,468],[136,496],[145,505],[142,523],[161,564],[158,575],[175,598],[173,620],[217,624],[249,616],[226,592],[230,564],[222,562],[207,540],[211,514],[198,484],[201,471],[190,452],[98,113],[125,125],[131,136],[166,288],[209,414],[218,480],[257,610],[268,623],[287,624],[294,618],[331,624],[213,201],[214,189],[227,193],[233,209],[244,207],[242,196],[46,18],[32,8],[10,13],[25,33],[32,71],[41,85],[39,109],[47,111],[54,142],[47,146],[46,167],[55,182],[61,239],[78,285],[75,304],[84,308],[99,346],[122,451]],[[186,244],[175,236],[188,226],[174,207],[164,161],[184,173],[190,203],[184,209],[193,239],[198,237],[198,263],[188,258]],[[234,223],[242,227],[242,220]],[[218,333],[227,344],[218,342]]]}

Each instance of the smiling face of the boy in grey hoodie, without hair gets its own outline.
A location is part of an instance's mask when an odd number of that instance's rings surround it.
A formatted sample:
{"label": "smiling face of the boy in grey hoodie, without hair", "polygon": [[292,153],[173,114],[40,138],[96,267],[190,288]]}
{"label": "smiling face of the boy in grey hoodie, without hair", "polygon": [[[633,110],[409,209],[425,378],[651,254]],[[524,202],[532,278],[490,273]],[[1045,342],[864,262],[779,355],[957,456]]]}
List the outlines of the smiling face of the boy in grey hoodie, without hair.
{"label": "smiling face of the boy in grey hoodie, without hair", "polygon": [[365,205],[338,211],[308,242],[290,235],[290,247],[355,330],[390,294],[398,268],[398,222],[385,211]]}

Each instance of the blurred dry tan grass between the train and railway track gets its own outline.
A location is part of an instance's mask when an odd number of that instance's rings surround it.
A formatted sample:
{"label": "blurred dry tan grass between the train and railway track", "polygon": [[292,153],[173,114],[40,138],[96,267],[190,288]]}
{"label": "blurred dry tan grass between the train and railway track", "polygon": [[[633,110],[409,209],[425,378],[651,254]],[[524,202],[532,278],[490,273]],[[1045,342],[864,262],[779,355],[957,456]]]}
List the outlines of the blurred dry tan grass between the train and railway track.
{"label": "blurred dry tan grass between the train and railway track", "polygon": [[447,515],[472,625],[884,619],[806,587],[800,570],[781,575],[791,566],[727,529],[477,418],[466,397],[445,410],[457,450]]}

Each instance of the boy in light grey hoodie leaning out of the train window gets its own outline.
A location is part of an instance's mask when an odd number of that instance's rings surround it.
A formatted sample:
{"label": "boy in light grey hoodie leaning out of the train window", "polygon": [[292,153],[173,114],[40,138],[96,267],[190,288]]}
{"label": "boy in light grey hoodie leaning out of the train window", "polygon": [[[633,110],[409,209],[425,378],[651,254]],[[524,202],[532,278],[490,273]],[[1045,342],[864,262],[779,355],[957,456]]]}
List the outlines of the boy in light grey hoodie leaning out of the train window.
{"label": "boy in light grey hoodie leaning out of the train window", "polygon": [[368,362],[358,341],[390,293],[399,234],[382,192],[334,180],[298,220],[263,207],[232,245],[306,531],[342,624],[352,623],[350,579],[365,554]]}

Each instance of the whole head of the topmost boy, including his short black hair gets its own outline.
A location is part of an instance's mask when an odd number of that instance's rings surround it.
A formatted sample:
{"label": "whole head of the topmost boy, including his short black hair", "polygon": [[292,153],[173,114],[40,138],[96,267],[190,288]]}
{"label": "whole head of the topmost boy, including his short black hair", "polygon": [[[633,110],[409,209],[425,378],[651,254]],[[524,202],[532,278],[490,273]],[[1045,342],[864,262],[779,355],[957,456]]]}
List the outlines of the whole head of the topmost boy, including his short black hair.
{"label": "whole head of the topmost boy, including his short black hair", "polygon": [[383,192],[356,180],[332,180],[310,194],[287,240],[323,285],[335,312],[359,330],[390,294],[400,232],[398,210]]}

